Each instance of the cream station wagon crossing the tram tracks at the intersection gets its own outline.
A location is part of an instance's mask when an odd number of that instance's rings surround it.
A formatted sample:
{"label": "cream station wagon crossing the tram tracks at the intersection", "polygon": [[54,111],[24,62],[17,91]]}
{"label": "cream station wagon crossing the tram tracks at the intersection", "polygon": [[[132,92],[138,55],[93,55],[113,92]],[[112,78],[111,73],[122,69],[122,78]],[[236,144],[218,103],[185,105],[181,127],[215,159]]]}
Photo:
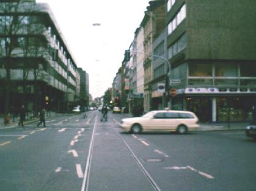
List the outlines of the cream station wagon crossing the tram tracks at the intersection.
{"label": "cream station wagon crossing the tram tracks at the intersection", "polygon": [[131,133],[145,131],[177,131],[186,133],[196,130],[198,118],[191,111],[159,110],[150,111],[142,117],[122,119],[120,127]]}

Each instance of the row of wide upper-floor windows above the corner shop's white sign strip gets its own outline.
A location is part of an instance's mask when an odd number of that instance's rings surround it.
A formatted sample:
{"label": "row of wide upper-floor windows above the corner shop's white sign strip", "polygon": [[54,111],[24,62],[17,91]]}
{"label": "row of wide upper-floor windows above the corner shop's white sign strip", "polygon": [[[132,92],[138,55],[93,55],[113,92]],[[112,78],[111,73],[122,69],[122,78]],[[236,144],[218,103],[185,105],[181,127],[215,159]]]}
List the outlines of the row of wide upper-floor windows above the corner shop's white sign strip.
{"label": "row of wide upper-floor windows above the corner shop's white sign strip", "polygon": [[189,64],[189,77],[256,77],[256,64]]}

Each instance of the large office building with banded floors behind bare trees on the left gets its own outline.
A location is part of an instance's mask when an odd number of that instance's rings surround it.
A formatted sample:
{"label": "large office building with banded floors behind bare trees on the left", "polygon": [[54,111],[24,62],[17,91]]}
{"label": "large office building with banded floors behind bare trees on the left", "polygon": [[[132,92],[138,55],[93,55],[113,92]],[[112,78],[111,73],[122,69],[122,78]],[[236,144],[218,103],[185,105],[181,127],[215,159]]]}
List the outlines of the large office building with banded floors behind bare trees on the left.
{"label": "large office building with banded floors behind bare trees on the left", "polygon": [[0,113],[25,105],[65,111],[74,101],[76,63],[47,4],[0,2]]}

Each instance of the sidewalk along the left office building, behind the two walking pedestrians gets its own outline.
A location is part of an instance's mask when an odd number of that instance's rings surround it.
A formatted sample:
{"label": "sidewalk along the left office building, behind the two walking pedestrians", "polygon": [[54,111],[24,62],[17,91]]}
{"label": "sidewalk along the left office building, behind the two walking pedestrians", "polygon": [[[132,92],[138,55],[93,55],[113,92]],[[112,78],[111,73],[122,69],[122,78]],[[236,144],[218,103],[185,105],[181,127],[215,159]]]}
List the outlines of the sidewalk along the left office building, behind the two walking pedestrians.
{"label": "sidewalk along the left office building, behind the two walking pedestrians", "polygon": [[[70,116],[70,115],[72,115],[72,114],[48,112],[48,113],[46,113],[45,119],[49,119],[51,117]],[[13,118],[10,118],[10,123],[8,123],[7,125],[4,125],[4,117],[0,117],[0,130],[19,127],[18,122],[20,122],[20,117],[15,117],[14,122],[13,122]],[[39,122],[39,117],[31,117],[31,119],[26,119],[23,123],[24,123],[24,126],[26,127],[27,124],[33,123],[33,122]]]}

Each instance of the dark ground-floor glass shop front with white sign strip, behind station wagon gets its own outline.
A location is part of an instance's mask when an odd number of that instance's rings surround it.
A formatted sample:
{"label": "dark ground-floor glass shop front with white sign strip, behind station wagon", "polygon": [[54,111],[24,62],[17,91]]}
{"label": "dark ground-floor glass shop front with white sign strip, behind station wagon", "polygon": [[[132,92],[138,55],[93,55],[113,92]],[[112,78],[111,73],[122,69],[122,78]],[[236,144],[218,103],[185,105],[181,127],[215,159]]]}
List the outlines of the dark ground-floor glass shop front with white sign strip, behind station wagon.
{"label": "dark ground-floor glass shop front with white sign strip, behind station wagon", "polygon": [[256,92],[224,94],[215,88],[185,88],[172,98],[172,109],[192,111],[200,122],[249,122],[254,119]]}

